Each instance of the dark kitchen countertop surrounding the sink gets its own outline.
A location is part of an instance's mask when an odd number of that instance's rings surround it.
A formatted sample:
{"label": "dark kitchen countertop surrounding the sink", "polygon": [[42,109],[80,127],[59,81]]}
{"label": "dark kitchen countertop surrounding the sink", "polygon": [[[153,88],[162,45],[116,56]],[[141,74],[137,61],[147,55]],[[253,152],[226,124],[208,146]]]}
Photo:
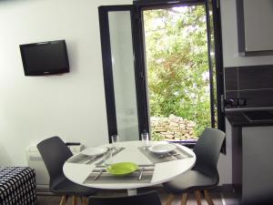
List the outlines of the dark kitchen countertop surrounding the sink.
{"label": "dark kitchen countertop surrounding the sink", "polygon": [[[261,110],[262,111],[262,110]],[[262,127],[262,126],[273,126],[273,120],[255,120],[250,121],[244,115],[243,110],[226,110],[225,113],[229,123],[233,127]]]}

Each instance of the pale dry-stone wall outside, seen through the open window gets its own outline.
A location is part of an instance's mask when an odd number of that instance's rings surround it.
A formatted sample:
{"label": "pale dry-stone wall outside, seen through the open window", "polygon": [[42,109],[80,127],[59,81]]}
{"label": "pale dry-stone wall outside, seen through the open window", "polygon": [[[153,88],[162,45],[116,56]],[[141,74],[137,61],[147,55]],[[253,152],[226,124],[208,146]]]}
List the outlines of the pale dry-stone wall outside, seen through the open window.
{"label": "pale dry-stone wall outside, seen through the open window", "polygon": [[197,139],[194,133],[196,122],[175,115],[168,118],[151,117],[153,140]]}

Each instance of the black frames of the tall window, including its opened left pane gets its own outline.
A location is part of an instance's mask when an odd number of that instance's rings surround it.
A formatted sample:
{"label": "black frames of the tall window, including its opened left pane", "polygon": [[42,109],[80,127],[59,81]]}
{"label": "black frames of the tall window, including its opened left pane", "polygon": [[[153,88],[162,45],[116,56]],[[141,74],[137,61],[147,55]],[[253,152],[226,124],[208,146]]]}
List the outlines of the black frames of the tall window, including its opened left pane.
{"label": "black frames of the tall window, including its opened left pane", "polygon": [[[210,0],[180,0],[180,1],[167,1],[161,0],[155,2],[154,0],[139,0],[134,1],[133,5],[104,5],[98,7],[99,25],[101,36],[101,49],[104,67],[104,82],[105,82],[105,96],[106,96],[106,116],[108,126],[108,137],[111,142],[111,135],[117,134],[116,124],[116,103],[115,103],[115,90],[112,70],[111,59],[111,45],[109,34],[108,12],[111,11],[130,11],[131,14],[131,33],[133,41],[134,52],[134,66],[135,66],[135,83],[136,83],[136,106],[137,106],[137,119],[138,119],[138,133],[139,139],[141,132],[149,132],[149,108],[147,98],[147,69],[146,69],[146,56],[145,56],[145,39],[143,35],[143,9],[147,8],[160,8],[166,5],[205,5]],[[221,110],[221,95],[224,94],[223,84],[223,55],[222,55],[222,41],[220,30],[220,11],[219,2],[211,0],[213,4],[214,15],[214,36],[215,36],[215,57],[216,57],[216,81],[217,81],[217,127],[225,131],[225,116]],[[207,7],[206,7],[207,11]],[[207,34],[208,36],[208,34]],[[207,41],[207,44],[209,42]],[[210,47],[210,45],[208,45]],[[207,50],[209,51],[209,50]],[[192,144],[189,143],[189,144]]]}

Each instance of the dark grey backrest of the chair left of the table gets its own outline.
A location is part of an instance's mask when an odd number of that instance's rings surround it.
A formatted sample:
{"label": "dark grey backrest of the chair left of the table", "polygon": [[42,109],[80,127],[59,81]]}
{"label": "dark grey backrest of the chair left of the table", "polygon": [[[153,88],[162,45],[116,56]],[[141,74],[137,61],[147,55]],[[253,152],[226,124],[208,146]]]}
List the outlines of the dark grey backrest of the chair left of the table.
{"label": "dark grey backrest of the chair left of the table", "polygon": [[51,186],[56,179],[63,176],[64,163],[73,154],[66,146],[66,143],[57,136],[41,141],[37,144],[37,149],[45,162]]}

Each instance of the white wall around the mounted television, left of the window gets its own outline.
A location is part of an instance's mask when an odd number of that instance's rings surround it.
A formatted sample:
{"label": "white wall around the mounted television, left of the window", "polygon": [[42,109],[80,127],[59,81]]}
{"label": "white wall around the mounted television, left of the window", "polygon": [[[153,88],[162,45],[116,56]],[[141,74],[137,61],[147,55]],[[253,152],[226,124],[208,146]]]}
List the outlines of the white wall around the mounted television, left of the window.
{"label": "white wall around the mounted television, left of the window", "polygon": [[[131,0],[0,1],[0,166],[26,165],[25,148],[60,136],[107,142],[98,5]],[[25,77],[20,44],[66,39],[71,72]]]}

